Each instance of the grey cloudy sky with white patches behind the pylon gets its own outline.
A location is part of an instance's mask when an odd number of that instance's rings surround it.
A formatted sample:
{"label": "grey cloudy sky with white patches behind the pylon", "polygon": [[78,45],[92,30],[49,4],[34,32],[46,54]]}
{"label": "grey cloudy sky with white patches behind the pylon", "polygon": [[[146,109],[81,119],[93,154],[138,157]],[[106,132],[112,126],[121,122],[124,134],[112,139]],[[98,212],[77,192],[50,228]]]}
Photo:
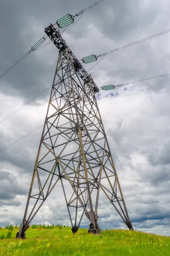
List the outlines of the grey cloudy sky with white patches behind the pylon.
{"label": "grey cloudy sky with white patches behind the pylon", "polygon": [[[25,54],[60,17],[92,0],[1,0],[0,73]],[[170,29],[167,0],[109,0],[63,33],[78,59],[99,55]],[[170,34],[107,55],[90,73],[98,87],[170,73]],[[51,43],[29,54],[0,79],[0,120],[52,84],[58,49]],[[86,70],[93,66],[84,64]],[[98,100],[125,202],[135,230],[170,236],[170,77],[122,87]],[[42,125],[50,91],[0,124],[0,148]],[[98,98],[104,96],[101,91]],[[0,152],[0,225],[23,218],[42,128]],[[63,213],[64,212],[64,213]],[[100,201],[101,228],[126,228]],[[68,224],[60,189],[32,223]],[[82,225],[87,227],[86,218]]]}

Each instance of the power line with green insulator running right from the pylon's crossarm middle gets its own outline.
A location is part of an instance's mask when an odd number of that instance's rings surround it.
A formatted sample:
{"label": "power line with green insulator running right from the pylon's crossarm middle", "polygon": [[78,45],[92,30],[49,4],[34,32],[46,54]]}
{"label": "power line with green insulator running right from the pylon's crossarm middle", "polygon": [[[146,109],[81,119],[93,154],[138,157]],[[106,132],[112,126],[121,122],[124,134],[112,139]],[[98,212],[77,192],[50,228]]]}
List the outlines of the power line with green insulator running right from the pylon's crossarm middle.
{"label": "power line with green insulator running right from the pylon's crossarm middle", "polygon": [[141,39],[141,40],[135,41],[135,42],[130,43],[130,44],[126,44],[126,45],[124,45],[124,46],[122,46],[122,47],[116,48],[116,49],[111,50],[111,51],[109,51],[109,52],[101,53],[100,55],[92,54],[92,55],[89,55],[89,56],[86,56],[86,57],[82,58],[82,61],[83,61],[84,63],[86,63],[86,64],[87,64],[87,63],[91,63],[91,62],[93,62],[93,61],[97,61],[98,57],[106,56],[106,55],[108,55],[108,54],[110,54],[110,53],[112,53],[112,52],[117,52],[117,51],[119,51],[119,50],[121,50],[121,49],[130,47],[130,46],[135,45],[135,44],[139,44],[139,43],[141,43],[141,42],[147,41],[147,40],[149,40],[149,39],[151,39],[151,38],[155,38],[155,37],[157,37],[157,36],[159,36],[159,35],[164,35],[164,34],[169,33],[169,32],[170,32],[170,29],[167,29],[167,30],[162,31],[162,32],[160,32],[160,33],[158,33],[158,34],[148,36],[147,38],[143,38],[143,39]]}

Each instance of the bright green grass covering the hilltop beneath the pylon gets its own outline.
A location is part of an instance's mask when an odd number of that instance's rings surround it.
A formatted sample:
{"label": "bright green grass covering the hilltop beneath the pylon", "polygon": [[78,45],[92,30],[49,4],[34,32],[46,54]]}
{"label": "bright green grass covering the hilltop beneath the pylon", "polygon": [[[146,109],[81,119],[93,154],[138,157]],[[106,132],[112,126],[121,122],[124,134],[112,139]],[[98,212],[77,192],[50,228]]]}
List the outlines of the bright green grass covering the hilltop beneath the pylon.
{"label": "bright green grass covering the hilltop beneath the pylon", "polygon": [[[8,230],[0,230],[0,235]],[[27,239],[0,240],[0,256],[169,256],[170,237],[156,236],[130,230],[106,230],[101,235],[89,235],[71,228],[29,229]]]}

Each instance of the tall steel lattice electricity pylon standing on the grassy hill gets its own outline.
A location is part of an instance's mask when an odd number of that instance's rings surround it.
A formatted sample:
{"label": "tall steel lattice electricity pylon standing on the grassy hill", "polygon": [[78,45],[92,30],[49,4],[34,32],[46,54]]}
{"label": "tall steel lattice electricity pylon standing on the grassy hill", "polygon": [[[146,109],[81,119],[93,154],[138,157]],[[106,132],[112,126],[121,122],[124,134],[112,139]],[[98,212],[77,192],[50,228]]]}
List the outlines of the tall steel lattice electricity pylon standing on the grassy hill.
{"label": "tall steel lattice electricity pylon standing on the grassy hill", "polygon": [[84,214],[90,222],[89,232],[100,232],[100,191],[133,229],[95,98],[98,87],[59,30],[51,24],[45,32],[58,47],[59,56],[23,223],[16,237],[25,238],[25,231],[49,194],[53,189],[58,193],[59,181],[73,233],[78,231]]}

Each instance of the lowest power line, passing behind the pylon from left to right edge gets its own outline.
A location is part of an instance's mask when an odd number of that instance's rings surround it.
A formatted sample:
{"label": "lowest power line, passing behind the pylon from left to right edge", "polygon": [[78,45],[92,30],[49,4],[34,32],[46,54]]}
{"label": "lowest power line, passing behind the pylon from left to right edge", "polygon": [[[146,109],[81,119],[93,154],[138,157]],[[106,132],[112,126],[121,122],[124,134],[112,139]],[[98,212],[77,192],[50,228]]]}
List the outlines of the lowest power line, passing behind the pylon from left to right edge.
{"label": "lowest power line, passing behind the pylon from left to right edge", "polygon": [[[137,80],[137,81],[132,81],[132,82],[128,82],[128,83],[124,83],[124,84],[118,84],[118,85],[112,85],[115,89],[111,91],[111,93],[101,97],[100,99],[103,99],[107,96],[109,96],[110,94],[114,93],[115,91],[117,91],[119,88],[121,88],[122,86],[124,85],[128,85],[128,84],[134,84],[134,83],[137,83],[137,82],[141,82],[141,81],[147,81],[147,80],[150,80],[150,79],[156,79],[156,78],[159,78],[159,77],[163,77],[163,76],[169,76],[170,73],[167,73],[167,74],[163,74],[163,75],[159,75],[159,76],[153,76],[153,77],[149,77],[149,78],[145,78],[145,79],[140,79],[140,80]],[[99,100],[99,99],[97,99]],[[27,137],[28,135],[32,134],[33,132],[37,131],[37,129],[39,129],[40,127],[42,127],[43,125],[40,125],[38,126],[37,128],[35,128],[34,130],[30,131],[29,133],[27,133],[26,135],[20,137],[20,139],[18,140],[15,140],[13,143],[7,145],[6,147],[4,148],[1,148],[0,149],[0,152],[4,151],[6,148],[9,148],[10,146],[14,145],[15,143],[17,143],[18,141],[24,139],[25,137]]]}

